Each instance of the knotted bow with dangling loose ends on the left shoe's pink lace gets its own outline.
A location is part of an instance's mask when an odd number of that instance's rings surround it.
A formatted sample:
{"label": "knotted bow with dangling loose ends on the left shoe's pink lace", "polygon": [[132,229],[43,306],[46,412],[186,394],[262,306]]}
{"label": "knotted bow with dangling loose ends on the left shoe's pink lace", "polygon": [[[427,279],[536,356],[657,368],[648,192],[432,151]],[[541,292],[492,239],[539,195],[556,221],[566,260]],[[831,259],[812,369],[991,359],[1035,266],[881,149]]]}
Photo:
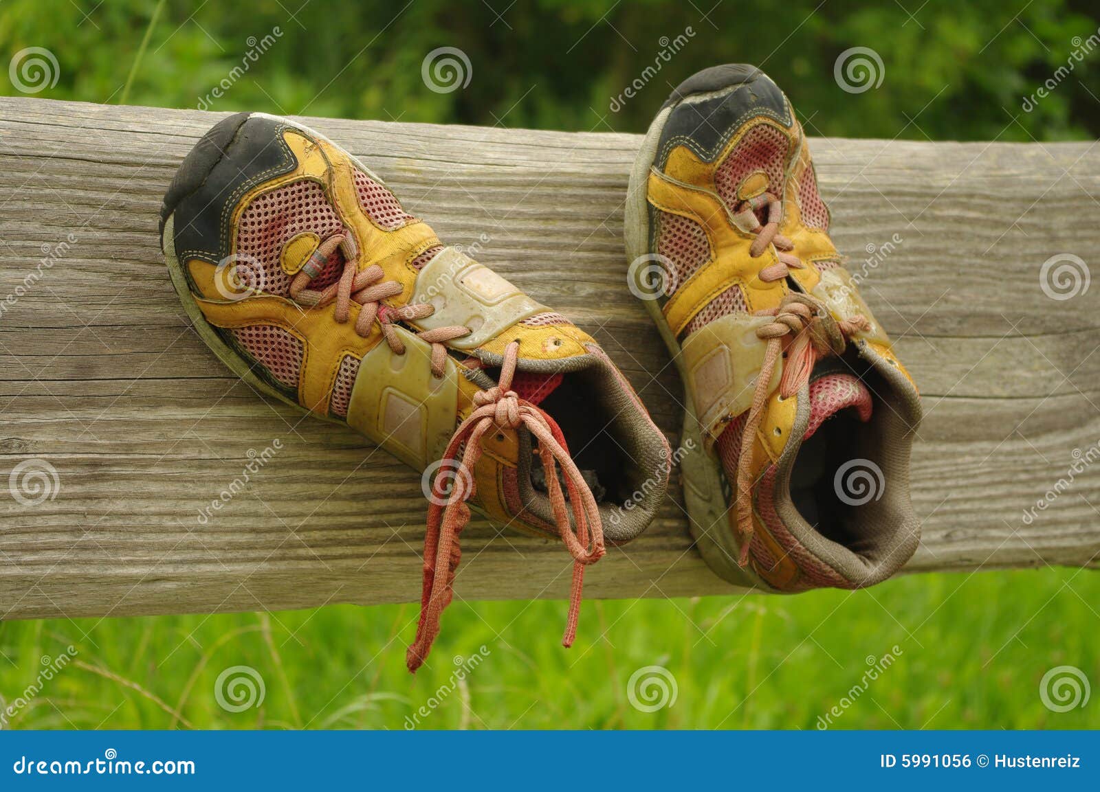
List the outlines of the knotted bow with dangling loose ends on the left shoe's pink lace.
{"label": "knotted bow with dangling loose ends on the left shoe's pink lace", "polygon": [[[466,501],[475,494],[476,484],[472,471],[482,456],[481,439],[486,432],[526,426],[539,443],[539,457],[546,470],[554,524],[570,555],[573,556],[569,617],[561,642],[566,647],[572,646],[576,636],[584,568],[598,561],[606,551],[596,501],[565,448],[561,430],[547,413],[510,390],[518,356],[519,344],[512,342],[504,353],[498,383],[474,394],[474,411],[459,425],[447,446],[442,459],[444,468],[448,465],[453,466],[460,453],[462,455],[458,466],[459,475],[452,478],[450,493],[442,491],[441,477],[437,476],[432,484],[435,498],[428,506],[428,531],[424,542],[420,622],[417,625],[416,640],[406,655],[410,671],[415,672],[428,656],[431,644],[439,634],[440,614],[450,604],[453,595],[454,573],[462,556],[459,549],[459,535],[470,522],[470,506]],[[559,466],[569,492],[568,506],[558,481]],[[570,524],[570,509],[573,523],[576,525],[575,533]]]}

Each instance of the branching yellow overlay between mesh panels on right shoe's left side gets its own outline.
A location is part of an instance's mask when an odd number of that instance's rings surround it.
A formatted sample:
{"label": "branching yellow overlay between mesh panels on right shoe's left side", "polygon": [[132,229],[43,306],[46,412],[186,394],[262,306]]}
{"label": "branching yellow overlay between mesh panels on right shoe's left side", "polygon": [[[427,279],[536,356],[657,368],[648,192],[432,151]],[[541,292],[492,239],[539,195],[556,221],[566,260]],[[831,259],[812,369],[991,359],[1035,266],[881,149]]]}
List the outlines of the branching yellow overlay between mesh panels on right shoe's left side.
{"label": "branching yellow overlay between mesh panels on right shoe's left side", "polygon": [[698,223],[711,249],[718,252],[717,260],[712,259],[700,267],[664,304],[664,317],[674,334],[679,335],[695,314],[735,283],[741,287],[750,312],[779,305],[787,286],[782,280],[765,282],[758,275],[778,261],[774,248],[769,246],[757,258],[749,256],[751,234],[737,228],[717,196],[678,185],[650,171],[647,197],[661,211]]}

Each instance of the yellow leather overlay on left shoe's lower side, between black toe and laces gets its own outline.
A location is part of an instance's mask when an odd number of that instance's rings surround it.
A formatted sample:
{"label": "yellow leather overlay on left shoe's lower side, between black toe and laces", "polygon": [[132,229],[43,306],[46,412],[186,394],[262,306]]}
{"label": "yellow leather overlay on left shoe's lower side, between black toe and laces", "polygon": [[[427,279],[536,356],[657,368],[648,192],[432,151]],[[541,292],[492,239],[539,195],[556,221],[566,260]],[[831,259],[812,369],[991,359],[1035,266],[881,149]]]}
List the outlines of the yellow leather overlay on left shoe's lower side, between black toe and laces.
{"label": "yellow leather overlay on left shoe's lower side, between black toe and laces", "polygon": [[[250,297],[237,302],[204,299],[196,302],[207,321],[218,327],[273,324],[301,338],[304,355],[298,381],[298,403],[321,415],[328,415],[329,397],[344,355],[361,358],[378,346],[382,339],[382,333],[376,326],[372,327],[365,338],[355,332],[355,317],[359,314],[359,305],[355,303],[351,305],[349,321],[340,324],[332,317],[334,305],[307,311],[289,300],[272,294]],[[369,378],[358,377],[356,383],[362,379]]]}

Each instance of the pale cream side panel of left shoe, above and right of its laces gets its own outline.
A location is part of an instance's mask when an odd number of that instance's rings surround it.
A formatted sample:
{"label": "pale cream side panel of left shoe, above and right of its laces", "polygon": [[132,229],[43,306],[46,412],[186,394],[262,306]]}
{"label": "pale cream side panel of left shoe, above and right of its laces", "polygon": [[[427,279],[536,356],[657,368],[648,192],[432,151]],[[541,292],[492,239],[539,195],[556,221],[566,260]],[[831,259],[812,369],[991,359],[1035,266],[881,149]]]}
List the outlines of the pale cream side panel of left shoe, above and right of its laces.
{"label": "pale cream side panel of left shoe, above and right of its laces", "polygon": [[410,302],[436,311],[417,320],[422,330],[461,325],[471,333],[450,342],[455,349],[476,349],[520,320],[548,309],[453,247],[443,248],[417,278]]}

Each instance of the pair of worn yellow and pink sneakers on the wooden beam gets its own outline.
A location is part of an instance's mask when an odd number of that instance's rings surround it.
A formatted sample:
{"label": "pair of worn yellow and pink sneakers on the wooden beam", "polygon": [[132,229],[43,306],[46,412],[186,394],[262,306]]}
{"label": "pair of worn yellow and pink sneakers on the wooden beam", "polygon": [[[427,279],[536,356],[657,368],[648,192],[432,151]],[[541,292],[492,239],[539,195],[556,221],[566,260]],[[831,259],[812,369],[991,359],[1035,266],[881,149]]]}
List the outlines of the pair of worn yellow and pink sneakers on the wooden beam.
{"label": "pair of worn yellow and pink sneakers on the wooden beam", "polygon": [[[359,159],[287,119],[220,121],[161,221],[173,285],[226,365],[426,471],[409,669],[451,601],[471,509],[564,543],[569,646],[585,567],[646,528],[671,466],[595,339],[443,245]],[[682,448],[696,450],[675,458],[697,546],[744,587],[869,585],[919,538],[917,393],[828,225],[774,82],[719,66],[673,91],[630,178],[623,298],[646,299],[688,391]]]}

